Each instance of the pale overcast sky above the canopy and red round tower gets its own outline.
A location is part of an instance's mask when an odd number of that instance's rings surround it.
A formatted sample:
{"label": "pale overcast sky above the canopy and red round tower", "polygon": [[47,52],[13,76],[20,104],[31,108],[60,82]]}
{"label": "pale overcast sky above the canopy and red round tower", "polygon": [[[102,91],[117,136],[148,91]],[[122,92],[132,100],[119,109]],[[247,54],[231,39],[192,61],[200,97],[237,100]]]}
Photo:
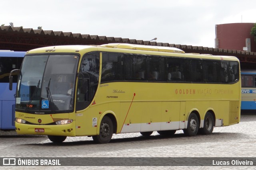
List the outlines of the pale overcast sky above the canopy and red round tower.
{"label": "pale overcast sky above the canopy and red round tower", "polygon": [[0,25],[214,47],[215,25],[256,23],[256,0],[4,0]]}

